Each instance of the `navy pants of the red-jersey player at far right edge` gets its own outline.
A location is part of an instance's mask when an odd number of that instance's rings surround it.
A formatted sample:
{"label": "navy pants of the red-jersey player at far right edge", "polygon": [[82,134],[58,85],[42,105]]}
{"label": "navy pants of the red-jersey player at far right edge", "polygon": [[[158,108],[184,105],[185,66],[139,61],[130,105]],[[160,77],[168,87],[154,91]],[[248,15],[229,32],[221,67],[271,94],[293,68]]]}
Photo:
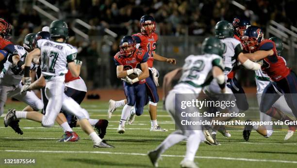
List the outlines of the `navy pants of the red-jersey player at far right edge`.
{"label": "navy pants of the red-jersey player at far right edge", "polygon": [[281,97],[280,94],[276,92],[277,89],[279,92],[284,94],[285,100],[288,106],[291,108],[295,117],[297,117],[297,76],[291,71],[288,76],[285,78],[276,81],[270,82],[261,97],[260,111],[266,113],[272,105]]}

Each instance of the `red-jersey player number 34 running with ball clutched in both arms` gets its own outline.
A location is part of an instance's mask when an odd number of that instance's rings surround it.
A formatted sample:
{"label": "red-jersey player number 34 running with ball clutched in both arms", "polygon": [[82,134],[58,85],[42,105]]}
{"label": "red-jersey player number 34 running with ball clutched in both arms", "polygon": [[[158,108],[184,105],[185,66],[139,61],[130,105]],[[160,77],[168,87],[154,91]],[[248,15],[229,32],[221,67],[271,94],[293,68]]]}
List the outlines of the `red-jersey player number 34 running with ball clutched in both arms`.
{"label": "red-jersey player number 34 running with ball clutched in both arms", "polygon": [[[124,92],[127,104],[124,106],[121,120],[117,129],[119,134],[125,133],[125,122],[130,115],[132,107],[135,107],[135,114],[140,116],[147,101],[146,78],[148,74],[148,52],[136,48],[136,42],[132,36],[124,36],[119,44],[120,51],[114,56],[116,75],[124,78]],[[131,79],[131,74],[138,77]]]}

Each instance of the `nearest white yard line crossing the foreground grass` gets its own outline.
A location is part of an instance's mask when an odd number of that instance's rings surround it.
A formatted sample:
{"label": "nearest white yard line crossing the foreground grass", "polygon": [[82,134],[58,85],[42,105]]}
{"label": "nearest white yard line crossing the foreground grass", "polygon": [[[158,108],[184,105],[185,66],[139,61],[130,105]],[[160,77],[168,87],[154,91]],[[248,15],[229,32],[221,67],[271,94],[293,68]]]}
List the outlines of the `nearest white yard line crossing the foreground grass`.
{"label": "nearest white yard line crossing the foreground grass", "polygon": [[[23,153],[99,153],[99,154],[122,154],[122,155],[138,155],[147,156],[146,153],[120,153],[120,152],[102,152],[102,151],[28,151],[28,150],[1,150],[1,152],[23,152]],[[163,154],[163,157],[184,157],[184,155]],[[238,160],[249,162],[277,162],[277,163],[292,163],[297,164],[297,161],[289,160],[270,160],[270,159],[248,159],[235,157],[216,157],[216,156],[195,156],[200,159],[222,159],[222,160]]]}

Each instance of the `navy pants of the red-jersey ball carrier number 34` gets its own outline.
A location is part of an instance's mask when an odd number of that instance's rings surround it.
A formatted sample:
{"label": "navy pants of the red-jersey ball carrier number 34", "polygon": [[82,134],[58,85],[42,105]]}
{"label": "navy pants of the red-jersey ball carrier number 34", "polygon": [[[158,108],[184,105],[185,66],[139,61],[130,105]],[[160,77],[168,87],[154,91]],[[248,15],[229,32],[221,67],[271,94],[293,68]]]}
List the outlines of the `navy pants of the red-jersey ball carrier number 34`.
{"label": "navy pants of the red-jersey ball carrier number 34", "polygon": [[140,116],[143,113],[143,107],[147,100],[147,88],[143,84],[128,84],[124,83],[124,92],[127,98],[127,105],[135,107],[135,114]]}

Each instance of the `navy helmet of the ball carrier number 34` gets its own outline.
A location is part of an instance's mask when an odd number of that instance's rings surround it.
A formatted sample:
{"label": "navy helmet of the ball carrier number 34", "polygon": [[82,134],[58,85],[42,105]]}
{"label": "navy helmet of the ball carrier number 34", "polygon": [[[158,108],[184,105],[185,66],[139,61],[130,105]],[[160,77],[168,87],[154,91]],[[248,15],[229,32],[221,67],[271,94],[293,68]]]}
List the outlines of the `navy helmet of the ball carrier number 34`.
{"label": "navy helmet of the ball carrier number 34", "polygon": [[120,54],[130,56],[136,49],[136,41],[132,36],[124,36],[119,44]]}

